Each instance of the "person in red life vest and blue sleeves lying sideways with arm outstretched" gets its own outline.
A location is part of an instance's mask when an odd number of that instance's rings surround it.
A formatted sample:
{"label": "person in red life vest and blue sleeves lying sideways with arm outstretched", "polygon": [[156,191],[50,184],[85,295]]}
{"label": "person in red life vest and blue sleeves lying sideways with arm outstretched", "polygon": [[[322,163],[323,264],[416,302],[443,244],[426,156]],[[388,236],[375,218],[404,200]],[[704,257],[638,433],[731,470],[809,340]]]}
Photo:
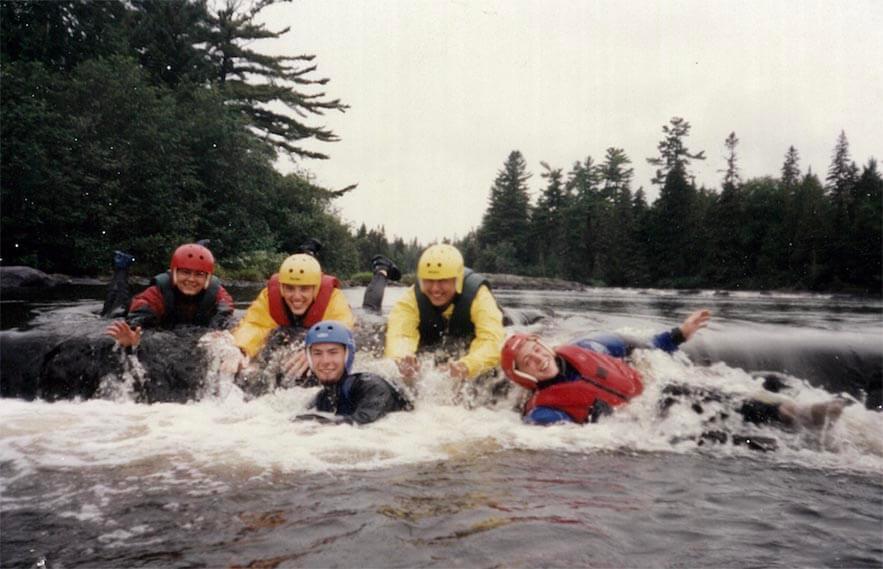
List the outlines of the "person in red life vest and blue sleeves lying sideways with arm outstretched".
{"label": "person in red life vest and blue sleeves lying sideways with arm outstretched", "polygon": [[[672,353],[705,328],[710,318],[710,311],[698,310],[680,326],[654,336],[650,346],[638,346],[613,334],[599,334],[553,349],[537,336],[515,334],[503,345],[501,367],[510,380],[533,392],[523,409],[525,422],[594,423],[643,391],[641,374],[623,360],[632,349],[651,347]],[[666,386],[663,393],[667,395],[661,405],[663,411],[676,397],[708,396],[707,390],[689,386]],[[817,427],[839,417],[846,402],[835,399],[798,406],[792,401],[767,403],[747,399],[738,404],[736,411],[746,422]]]}

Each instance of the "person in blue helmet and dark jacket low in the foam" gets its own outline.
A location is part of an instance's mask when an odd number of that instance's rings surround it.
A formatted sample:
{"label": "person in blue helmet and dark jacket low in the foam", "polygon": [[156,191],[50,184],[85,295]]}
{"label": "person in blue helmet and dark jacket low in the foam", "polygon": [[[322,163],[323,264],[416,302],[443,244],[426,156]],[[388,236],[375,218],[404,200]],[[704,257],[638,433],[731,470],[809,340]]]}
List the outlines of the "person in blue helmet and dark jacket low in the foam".
{"label": "person in blue helmet and dark jacket low in the foam", "polygon": [[304,343],[311,375],[322,386],[311,408],[333,416],[313,413],[295,419],[363,425],[387,413],[413,408],[402,392],[383,377],[353,373],[356,343],[343,323],[323,320],[313,325]]}

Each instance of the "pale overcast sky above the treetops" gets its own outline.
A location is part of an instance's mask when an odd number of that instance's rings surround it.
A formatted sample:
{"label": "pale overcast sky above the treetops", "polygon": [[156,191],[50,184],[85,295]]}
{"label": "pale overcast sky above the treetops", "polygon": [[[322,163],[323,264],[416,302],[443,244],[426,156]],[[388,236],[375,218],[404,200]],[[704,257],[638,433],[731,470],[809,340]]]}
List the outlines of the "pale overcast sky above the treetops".
{"label": "pale overcast sky above the treetops", "polygon": [[266,48],[315,54],[345,114],[311,119],[341,138],[301,167],[357,227],[428,243],[481,222],[509,152],[542,188],[563,168],[623,148],[653,198],[662,125],[681,116],[717,188],[735,131],[743,178],[776,176],[789,145],[824,178],[841,130],[860,165],[883,159],[883,2],[710,0],[333,1],[266,10]]}

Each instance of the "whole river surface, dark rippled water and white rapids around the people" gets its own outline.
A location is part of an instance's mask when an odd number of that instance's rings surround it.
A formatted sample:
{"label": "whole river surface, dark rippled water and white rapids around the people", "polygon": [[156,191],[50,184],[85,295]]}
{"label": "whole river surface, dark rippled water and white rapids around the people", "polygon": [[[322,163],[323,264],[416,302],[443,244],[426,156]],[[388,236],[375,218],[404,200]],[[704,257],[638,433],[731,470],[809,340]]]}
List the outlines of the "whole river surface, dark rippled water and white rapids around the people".
{"label": "whole river surface, dark rippled water and white rapids around the people", "polygon": [[[353,306],[364,289],[346,291]],[[388,310],[402,289],[390,289]],[[75,291],[75,292],[74,292]],[[234,290],[243,308],[256,289]],[[103,291],[4,292],[3,328],[95,328]],[[883,304],[831,295],[592,289],[498,291],[591,330],[649,337],[710,307],[710,338],[864,342],[883,354]],[[365,316],[372,321],[372,317]],[[374,317],[376,318],[376,317]],[[121,356],[120,357],[124,357]],[[361,353],[356,368],[392,375]],[[595,425],[521,423],[514,399],[467,408],[442,374],[416,408],[375,424],[291,422],[315,389],[247,400],[224,377],[188,404],[0,400],[3,567],[883,567],[883,414],[857,403],[774,452],[703,444],[703,416],[660,416],[664,380],[735,397],[758,379],[642,351],[644,395]],[[126,378],[109,378],[124,382]],[[802,378],[787,396],[832,397]],[[513,393],[517,397],[517,392]],[[707,416],[707,415],[706,415]]]}

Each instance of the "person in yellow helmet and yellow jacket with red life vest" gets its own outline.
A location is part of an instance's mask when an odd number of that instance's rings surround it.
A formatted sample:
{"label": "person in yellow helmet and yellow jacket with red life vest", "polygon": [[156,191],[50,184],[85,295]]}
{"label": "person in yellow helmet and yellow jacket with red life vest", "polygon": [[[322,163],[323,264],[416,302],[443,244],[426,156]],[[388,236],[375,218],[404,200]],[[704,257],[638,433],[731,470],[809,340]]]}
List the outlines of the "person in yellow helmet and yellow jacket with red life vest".
{"label": "person in yellow helmet and yellow jacket with red life vest", "polygon": [[[276,328],[306,329],[322,320],[336,320],[350,329],[355,324],[353,311],[340,290],[340,281],[322,274],[315,257],[299,253],[282,261],[279,272],[270,277],[233,330],[233,340],[251,358],[261,352]],[[286,369],[300,377],[308,367],[301,350]]]}

